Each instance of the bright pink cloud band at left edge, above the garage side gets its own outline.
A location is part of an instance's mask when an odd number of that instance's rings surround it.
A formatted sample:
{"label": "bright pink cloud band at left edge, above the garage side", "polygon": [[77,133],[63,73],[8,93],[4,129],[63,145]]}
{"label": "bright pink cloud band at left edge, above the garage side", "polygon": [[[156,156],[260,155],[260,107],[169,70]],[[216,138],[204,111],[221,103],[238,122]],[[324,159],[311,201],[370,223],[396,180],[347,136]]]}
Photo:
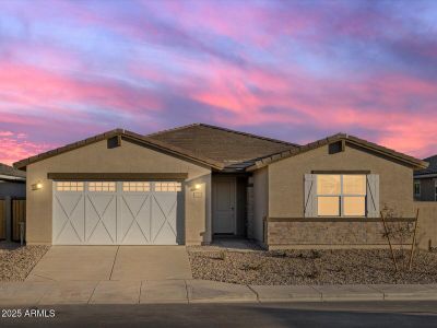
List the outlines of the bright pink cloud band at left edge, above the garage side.
{"label": "bright pink cloud band at left edge, above the garage side", "polygon": [[76,79],[26,65],[0,62],[2,101],[14,106],[51,107],[58,114],[71,114],[64,105],[74,103],[131,113],[144,107],[152,110],[161,107],[160,98],[144,87],[86,78],[86,74]]}

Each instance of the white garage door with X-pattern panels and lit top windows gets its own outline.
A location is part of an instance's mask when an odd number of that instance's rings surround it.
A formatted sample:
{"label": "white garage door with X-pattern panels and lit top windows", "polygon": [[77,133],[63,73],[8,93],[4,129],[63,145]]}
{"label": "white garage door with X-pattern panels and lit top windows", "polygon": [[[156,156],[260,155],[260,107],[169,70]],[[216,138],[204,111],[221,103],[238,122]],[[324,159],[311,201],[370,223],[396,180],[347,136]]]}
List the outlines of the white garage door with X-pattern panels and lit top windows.
{"label": "white garage door with X-pattern panels and lit top windows", "polygon": [[55,181],[52,244],[177,245],[180,194],[176,181]]}

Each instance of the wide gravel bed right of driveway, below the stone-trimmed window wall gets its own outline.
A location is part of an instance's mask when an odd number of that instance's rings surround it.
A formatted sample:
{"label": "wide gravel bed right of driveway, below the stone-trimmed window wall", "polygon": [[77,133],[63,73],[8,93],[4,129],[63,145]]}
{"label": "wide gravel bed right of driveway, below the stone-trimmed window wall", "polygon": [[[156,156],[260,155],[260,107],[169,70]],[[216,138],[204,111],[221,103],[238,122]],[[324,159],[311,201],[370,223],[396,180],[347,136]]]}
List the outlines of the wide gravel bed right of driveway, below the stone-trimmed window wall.
{"label": "wide gravel bed right of driveway, below the stone-trimmed window wall", "polygon": [[[208,248],[206,248],[208,249]],[[437,254],[418,251],[395,273],[389,250],[200,250],[189,248],[194,279],[240,284],[437,283]],[[395,251],[400,268],[403,261]]]}

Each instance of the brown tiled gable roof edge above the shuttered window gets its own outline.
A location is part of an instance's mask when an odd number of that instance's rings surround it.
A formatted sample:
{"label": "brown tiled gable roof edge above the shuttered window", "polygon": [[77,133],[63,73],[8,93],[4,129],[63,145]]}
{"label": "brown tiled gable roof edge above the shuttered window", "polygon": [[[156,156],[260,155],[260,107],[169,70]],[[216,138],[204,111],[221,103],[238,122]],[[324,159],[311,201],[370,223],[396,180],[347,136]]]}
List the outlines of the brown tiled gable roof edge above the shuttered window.
{"label": "brown tiled gable roof edge above the shuttered window", "polygon": [[274,155],[271,155],[271,156],[263,157],[263,159],[257,161],[255,163],[255,165],[248,167],[247,171],[255,171],[255,169],[264,167],[264,166],[267,166],[267,165],[269,165],[271,163],[274,163],[274,162],[277,162],[277,161],[282,161],[284,159],[287,159],[287,157],[291,157],[291,156],[295,156],[295,155],[298,155],[298,154],[302,154],[302,153],[318,149],[320,147],[323,147],[323,145],[327,145],[327,144],[330,144],[330,143],[333,143],[333,142],[342,141],[342,140],[344,140],[344,141],[346,141],[349,143],[357,144],[357,145],[359,145],[362,148],[368,149],[368,150],[374,151],[376,153],[386,155],[388,157],[391,157],[393,160],[402,162],[402,163],[404,163],[404,164],[406,164],[409,166],[412,166],[413,168],[426,168],[427,165],[428,165],[428,163],[426,163],[424,161],[421,161],[421,160],[417,160],[415,157],[399,153],[399,152],[397,152],[394,150],[381,147],[379,144],[376,144],[376,143],[373,143],[373,142],[369,142],[369,141],[366,141],[366,140],[363,140],[363,139],[359,139],[357,137],[354,137],[354,136],[351,136],[351,134],[346,134],[346,133],[336,133],[334,136],[331,136],[331,137],[328,137],[328,138],[324,138],[324,139],[320,139],[318,141],[308,143],[308,144],[299,147],[297,149],[287,150],[287,151],[284,151],[282,153],[277,153],[277,154],[274,154]]}

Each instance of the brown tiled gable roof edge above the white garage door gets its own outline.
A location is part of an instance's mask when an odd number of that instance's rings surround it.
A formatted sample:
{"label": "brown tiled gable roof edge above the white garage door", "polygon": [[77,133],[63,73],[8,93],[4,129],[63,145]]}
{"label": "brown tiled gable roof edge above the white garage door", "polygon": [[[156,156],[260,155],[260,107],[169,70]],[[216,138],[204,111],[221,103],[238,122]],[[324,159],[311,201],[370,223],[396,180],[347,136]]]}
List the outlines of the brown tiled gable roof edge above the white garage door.
{"label": "brown tiled gable roof edge above the white garage door", "polygon": [[61,153],[66,153],[66,152],[79,149],[81,147],[84,147],[84,145],[87,145],[87,144],[91,144],[91,143],[95,143],[97,141],[107,140],[109,138],[114,138],[114,137],[118,137],[118,136],[120,136],[122,138],[126,138],[126,139],[134,140],[134,141],[137,141],[137,142],[139,142],[141,144],[149,145],[151,148],[158,149],[158,150],[165,151],[165,152],[174,154],[174,155],[178,155],[180,157],[193,161],[196,163],[199,163],[199,164],[202,164],[202,165],[206,165],[206,166],[212,167],[212,168],[216,168],[216,169],[222,169],[223,168],[223,165],[220,162],[216,162],[216,161],[214,161],[212,159],[209,159],[209,157],[205,157],[205,156],[200,156],[200,155],[191,153],[188,150],[180,149],[180,148],[175,147],[173,144],[167,144],[166,142],[163,142],[163,141],[160,141],[160,140],[154,140],[154,139],[151,139],[151,138],[147,138],[147,137],[144,137],[144,136],[141,136],[141,134],[128,131],[128,130],[123,130],[123,129],[115,129],[115,130],[111,130],[111,131],[108,131],[108,132],[105,132],[105,133],[102,133],[102,134],[94,136],[92,138],[87,138],[85,140],[82,140],[82,141],[70,143],[68,145],[64,145],[64,147],[61,147],[61,148],[57,148],[55,150],[38,154],[36,156],[32,156],[32,157],[22,160],[20,162],[14,163],[13,165],[14,165],[15,168],[25,169],[25,167],[28,164],[32,164],[32,163],[35,163],[35,162],[39,162],[39,161],[43,161],[43,160],[59,155]]}

